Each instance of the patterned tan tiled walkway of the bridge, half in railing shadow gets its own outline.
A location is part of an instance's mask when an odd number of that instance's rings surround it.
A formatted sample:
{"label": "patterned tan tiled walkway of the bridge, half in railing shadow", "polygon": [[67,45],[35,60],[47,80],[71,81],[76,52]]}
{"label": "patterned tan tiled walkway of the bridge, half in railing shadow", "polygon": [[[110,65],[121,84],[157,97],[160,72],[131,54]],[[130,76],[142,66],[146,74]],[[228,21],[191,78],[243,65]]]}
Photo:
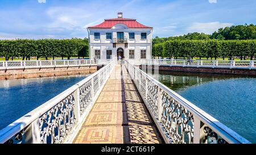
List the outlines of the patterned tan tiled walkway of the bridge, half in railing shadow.
{"label": "patterned tan tiled walkway of the bridge, half in railing shadow", "polygon": [[73,143],[163,143],[124,65],[116,65]]}

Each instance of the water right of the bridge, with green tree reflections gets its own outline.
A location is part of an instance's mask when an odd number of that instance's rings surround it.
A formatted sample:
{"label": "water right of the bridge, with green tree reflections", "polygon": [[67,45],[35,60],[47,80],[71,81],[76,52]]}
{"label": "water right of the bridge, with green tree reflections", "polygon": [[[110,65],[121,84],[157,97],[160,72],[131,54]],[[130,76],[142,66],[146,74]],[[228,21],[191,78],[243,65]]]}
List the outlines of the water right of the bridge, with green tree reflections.
{"label": "water right of the bridge, with green tree reflections", "polygon": [[160,72],[154,78],[256,143],[256,78],[186,72]]}

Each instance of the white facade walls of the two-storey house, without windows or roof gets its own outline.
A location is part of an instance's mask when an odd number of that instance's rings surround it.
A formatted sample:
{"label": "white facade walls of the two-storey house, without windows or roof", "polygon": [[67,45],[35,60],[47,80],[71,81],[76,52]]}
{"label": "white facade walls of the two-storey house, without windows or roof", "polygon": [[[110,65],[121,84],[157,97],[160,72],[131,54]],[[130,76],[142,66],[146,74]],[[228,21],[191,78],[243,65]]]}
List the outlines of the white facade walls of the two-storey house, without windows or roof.
{"label": "white facade walls of the two-storey house, without windows or roof", "polygon": [[[95,39],[94,32],[100,33],[100,39]],[[123,32],[123,40],[117,41],[117,33]],[[134,39],[130,39],[129,32],[134,32]],[[144,58],[144,50],[146,50],[146,58],[151,58],[152,53],[152,28],[129,28],[126,24],[117,23],[112,28],[88,28],[89,33],[89,57],[96,57],[96,51],[100,51],[100,59],[108,59],[118,57],[120,54],[125,59],[133,58],[139,60]],[[106,33],[112,34],[112,39],[106,39]],[[146,33],[146,39],[142,39],[142,33]],[[98,35],[98,34],[97,34]],[[120,49],[120,52],[117,52]],[[123,53],[122,53],[123,49]],[[107,50],[111,50],[112,56],[107,57]],[[130,51],[130,56],[129,56]],[[133,55],[134,51],[134,56]],[[110,53],[110,51],[108,51]]]}

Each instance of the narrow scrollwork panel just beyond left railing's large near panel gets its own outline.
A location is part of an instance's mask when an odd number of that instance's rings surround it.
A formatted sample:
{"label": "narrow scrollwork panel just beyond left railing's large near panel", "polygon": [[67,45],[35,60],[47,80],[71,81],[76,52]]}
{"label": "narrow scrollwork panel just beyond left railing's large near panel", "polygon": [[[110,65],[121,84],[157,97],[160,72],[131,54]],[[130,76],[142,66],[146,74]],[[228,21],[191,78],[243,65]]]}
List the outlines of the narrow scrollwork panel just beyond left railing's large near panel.
{"label": "narrow scrollwork panel just beyond left railing's large near panel", "polygon": [[84,111],[88,107],[89,103],[92,102],[92,81],[89,80],[79,88],[79,99],[80,99],[80,114],[84,114]]}

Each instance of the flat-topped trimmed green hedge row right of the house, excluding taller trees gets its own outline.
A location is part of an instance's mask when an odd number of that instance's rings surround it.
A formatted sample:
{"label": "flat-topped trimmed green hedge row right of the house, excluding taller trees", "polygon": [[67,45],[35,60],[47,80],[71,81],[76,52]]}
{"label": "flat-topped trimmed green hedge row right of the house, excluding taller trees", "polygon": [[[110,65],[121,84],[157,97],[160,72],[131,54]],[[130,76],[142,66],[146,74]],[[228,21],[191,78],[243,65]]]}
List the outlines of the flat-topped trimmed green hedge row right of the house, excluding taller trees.
{"label": "flat-topped trimmed green hedge row right of the house, excluding taller trees", "polygon": [[256,40],[168,40],[154,44],[152,56],[157,57],[228,57],[251,60],[256,56]]}

